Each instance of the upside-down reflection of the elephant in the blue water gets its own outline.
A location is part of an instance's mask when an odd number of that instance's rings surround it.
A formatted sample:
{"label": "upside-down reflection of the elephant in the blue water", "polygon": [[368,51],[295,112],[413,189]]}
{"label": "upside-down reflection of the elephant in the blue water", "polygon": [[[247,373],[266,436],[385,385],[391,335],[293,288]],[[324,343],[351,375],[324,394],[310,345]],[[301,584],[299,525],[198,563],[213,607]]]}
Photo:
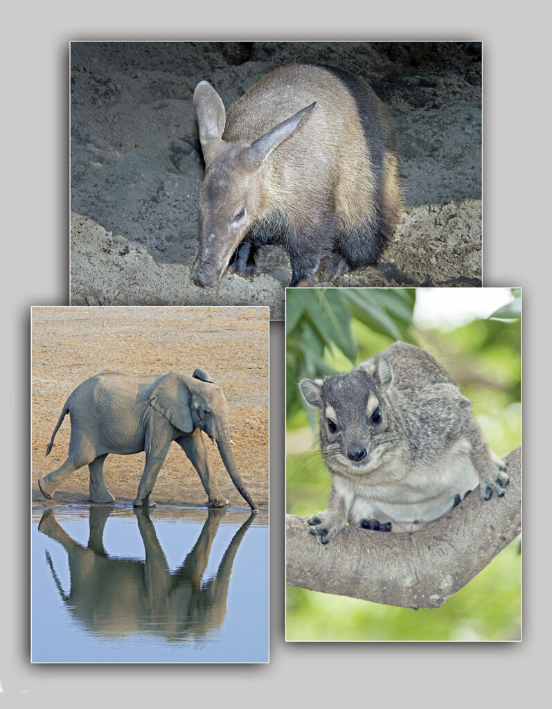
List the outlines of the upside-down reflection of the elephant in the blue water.
{"label": "upside-down reflection of the elephant in the blue water", "polygon": [[167,640],[199,639],[220,627],[232,564],[255,515],[241,525],[222,557],[216,574],[202,584],[211,545],[224,510],[209,515],[192,550],[177,571],[170,571],[147,508],[136,508],[145,562],[109,557],[104,549],[104,526],[113,508],[90,509],[88,548],[74,542],[47,510],[38,531],[59,542],[69,557],[71,589],[65,594],[46,552],[53,579],[70,612],[100,635],[155,633]]}

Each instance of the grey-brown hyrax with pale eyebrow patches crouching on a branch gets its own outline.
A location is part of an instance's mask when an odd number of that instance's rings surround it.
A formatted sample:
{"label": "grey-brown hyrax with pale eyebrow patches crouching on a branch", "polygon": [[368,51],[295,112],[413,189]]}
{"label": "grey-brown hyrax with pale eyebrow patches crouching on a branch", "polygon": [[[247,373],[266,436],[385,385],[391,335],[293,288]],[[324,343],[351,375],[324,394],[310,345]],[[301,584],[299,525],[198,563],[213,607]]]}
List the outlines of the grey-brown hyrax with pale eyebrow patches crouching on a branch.
{"label": "grey-brown hyrax with pale eyebrow patches crouching on a branch", "polygon": [[366,529],[418,530],[480,486],[484,500],[509,480],[471,404],[431,354],[404,342],[352,372],[302,379],[320,412],[331,473],[329,506],[309,519],[327,544],[348,521]]}

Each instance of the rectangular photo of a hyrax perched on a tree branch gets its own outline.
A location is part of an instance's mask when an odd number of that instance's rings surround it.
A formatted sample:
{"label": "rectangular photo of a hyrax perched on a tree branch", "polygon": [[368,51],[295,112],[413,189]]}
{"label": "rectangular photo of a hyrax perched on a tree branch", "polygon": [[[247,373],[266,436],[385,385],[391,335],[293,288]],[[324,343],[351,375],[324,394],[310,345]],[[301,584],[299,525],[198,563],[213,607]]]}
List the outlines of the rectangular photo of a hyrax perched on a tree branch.
{"label": "rectangular photo of a hyrax perched on a tree branch", "polygon": [[286,317],[286,639],[520,640],[521,291]]}

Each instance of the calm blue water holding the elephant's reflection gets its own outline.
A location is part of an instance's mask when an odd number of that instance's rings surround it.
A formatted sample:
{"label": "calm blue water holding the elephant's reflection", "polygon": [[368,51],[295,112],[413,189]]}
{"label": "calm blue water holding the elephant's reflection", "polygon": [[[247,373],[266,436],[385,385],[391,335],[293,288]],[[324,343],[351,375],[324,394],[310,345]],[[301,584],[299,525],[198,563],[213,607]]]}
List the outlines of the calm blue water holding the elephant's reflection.
{"label": "calm blue water holding the elephant's reflection", "polygon": [[268,513],[33,510],[34,662],[268,661]]}

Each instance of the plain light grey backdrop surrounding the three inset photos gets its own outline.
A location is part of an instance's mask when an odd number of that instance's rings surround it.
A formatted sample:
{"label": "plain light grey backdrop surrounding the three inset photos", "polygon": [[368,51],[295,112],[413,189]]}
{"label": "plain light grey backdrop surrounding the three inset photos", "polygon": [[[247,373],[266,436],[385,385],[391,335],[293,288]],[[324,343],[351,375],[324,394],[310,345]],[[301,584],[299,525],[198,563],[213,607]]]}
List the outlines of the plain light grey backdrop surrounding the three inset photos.
{"label": "plain light grey backdrop surrounding the three inset photos", "polygon": [[[548,684],[551,611],[546,486],[550,437],[548,330],[550,16],[536,1],[523,14],[466,0],[397,1],[277,9],[255,4],[128,4],[53,1],[11,6],[1,45],[3,99],[2,505],[0,684],[94,703],[165,699],[225,706],[359,703],[514,707]],[[224,9],[222,9],[224,8]],[[530,19],[531,25],[527,23]],[[131,26],[129,23],[132,23]],[[215,22],[215,28],[212,23]],[[546,33],[546,34],[545,34]],[[524,286],[524,641],[517,644],[285,644],[283,586],[283,325],[271,325],[271,642],[268,666],[31,666],[28,624],[29,306],[68,301],[67,56],[84,38],[345,38],[484,40],[485,284]],[[7,155],[6,155],[7,154]],[[7,157],[7,160],[6,160]],[[535,249],[535,252],[533,252]],[[15,481],[13,484],[12,481]],[[282,512],[280,512],[282,510]],[[144,676],[145,674],[145,676]],[[539,696],[536,694],[536,696]],[[546,696],[546,695],[545,695]]]}

